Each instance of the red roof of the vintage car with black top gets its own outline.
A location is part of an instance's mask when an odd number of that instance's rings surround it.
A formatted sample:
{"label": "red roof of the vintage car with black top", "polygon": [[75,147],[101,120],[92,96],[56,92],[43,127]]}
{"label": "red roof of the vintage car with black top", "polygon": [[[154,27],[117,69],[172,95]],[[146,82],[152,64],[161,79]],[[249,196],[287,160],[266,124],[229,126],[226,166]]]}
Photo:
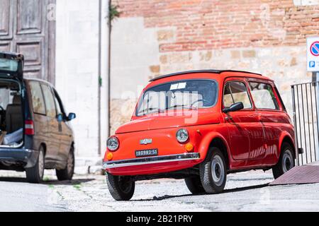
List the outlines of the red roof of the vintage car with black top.
{"label": "red roof of the vintage car with black top", "polygon": [[224,76],[226,77],[230,77],[230,76],[240,76],[240,77],[252,77],[252,78],[264,78],[269,80],[269,78],[262,76],[262,74],[260,73],[253,73],[250,71],[235,71],[235,70],[198,70],[198,71],[182,71],[182,72],[178,72],[178,73],[170,73],[164,76],[158,76],[156,78],[153,78],[152,80],[150,80],[150,82],[154,82],[154,81],[158,81],[162,78],[170,78],[170,77],[174,77],[174,76],[182,76],[182,75],[186,75],[186,74],[194,74],[194,73],[215,73],[218,74],[220,76]]}

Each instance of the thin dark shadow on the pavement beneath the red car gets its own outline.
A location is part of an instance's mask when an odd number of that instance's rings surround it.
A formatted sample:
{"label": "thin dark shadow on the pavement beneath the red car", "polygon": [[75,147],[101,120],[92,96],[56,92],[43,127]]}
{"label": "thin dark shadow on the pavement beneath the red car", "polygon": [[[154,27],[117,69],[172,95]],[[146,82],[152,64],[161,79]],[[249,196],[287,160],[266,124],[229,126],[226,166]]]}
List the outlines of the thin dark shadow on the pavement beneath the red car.
{"label": "thin dark shadow on the pavement beneath the red car", "polygon": [[[248,191],[252,189],[262,189],[264,187],[269,186],[269,183],[267,184],[259,184],[259,185],[254,185],[254,186],[245,186],[242,188],[236,188],[236,189],[227,189],[223,191],[221,194],[227,194],[227,193],[233,193],[233,192],[239,192],[239,191]],[[169,198],[181,198],[181,197],[196,197],[196,196],[210,196],[211,194],[185,194],[185,195],[180,195],[180,196],[160,196],[160,197],[154,197],[152,199],[140,199],[140,200],[132,200],[132,201],[161,201],[164,199],[169,199]]]}

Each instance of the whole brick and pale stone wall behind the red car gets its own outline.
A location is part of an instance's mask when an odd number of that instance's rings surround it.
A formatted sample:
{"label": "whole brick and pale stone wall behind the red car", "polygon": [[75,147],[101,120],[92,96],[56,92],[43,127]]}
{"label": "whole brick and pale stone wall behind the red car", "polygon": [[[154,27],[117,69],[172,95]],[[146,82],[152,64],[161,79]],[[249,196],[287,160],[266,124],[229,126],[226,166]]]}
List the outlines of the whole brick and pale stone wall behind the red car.
{"label": "whole brick and pale stone wall behind the red car", "polygon": [[[130,120],[140,90],[160,74],[192,69],[263,73],[276,81],[289,112],[290,85],[311,81],[306,72],[306,37],[319,35],[317,1],[118,0],[114,4],[121,18],[114,23],[112,36],[116,45],[111,64],[112,132]],[[126,105],[125,114],[119,114],[122,105],[116,102]]]}

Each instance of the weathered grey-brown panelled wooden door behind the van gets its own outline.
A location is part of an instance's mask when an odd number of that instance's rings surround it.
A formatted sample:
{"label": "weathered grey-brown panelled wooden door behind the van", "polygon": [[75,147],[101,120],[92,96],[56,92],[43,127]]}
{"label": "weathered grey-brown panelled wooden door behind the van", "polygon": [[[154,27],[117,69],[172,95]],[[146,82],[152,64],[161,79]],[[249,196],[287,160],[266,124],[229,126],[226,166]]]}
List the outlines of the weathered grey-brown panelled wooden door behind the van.
{"label": "weathered grey-brown panelled wooden door behind the van", "polygon": [[[55,81],[55,0],[0,0],[0,51],[25,55],[25,77]],[[54,7],[53,7],[54,8]]]}

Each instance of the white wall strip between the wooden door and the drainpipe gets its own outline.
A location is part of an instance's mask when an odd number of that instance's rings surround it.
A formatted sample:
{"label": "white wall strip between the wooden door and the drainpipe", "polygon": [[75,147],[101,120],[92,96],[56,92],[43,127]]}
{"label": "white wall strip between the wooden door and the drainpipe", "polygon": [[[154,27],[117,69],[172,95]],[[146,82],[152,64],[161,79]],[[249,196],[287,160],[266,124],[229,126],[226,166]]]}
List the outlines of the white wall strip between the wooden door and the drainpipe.
{"label": "white wall strip between the wooden door and the drainpipe", "polygon": [[56,11],[56,88],[67,112],[77,114],[77,165],[90,165],[99,157],[99,0],[57,0]]}

